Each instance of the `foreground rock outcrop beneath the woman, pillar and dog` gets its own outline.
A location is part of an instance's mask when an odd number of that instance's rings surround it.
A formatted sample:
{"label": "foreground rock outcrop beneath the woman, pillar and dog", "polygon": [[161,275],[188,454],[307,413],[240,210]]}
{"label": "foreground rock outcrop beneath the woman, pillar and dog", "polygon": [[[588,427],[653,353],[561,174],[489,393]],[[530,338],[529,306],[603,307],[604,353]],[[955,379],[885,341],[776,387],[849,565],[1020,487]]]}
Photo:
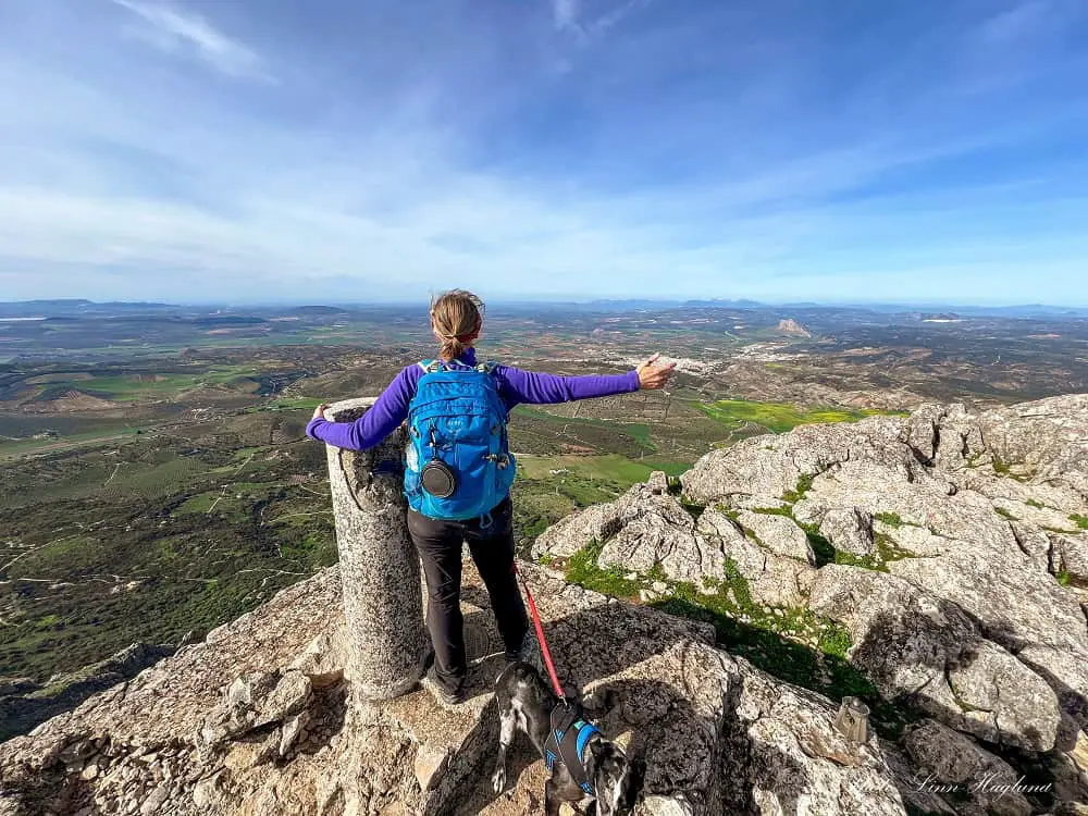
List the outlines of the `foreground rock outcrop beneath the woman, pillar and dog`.
{"label": "foreground rock outcrop beneath the woman, pillar and dog", "polygon": [[[713,646],[705,626],[609,602],[523,566],[560,672],[584,687],[610,737],[644,756],[641,816],[904,814],[908,761],[856,745],[836,706]],[[542,763],[490,790],[497,633],[466,586],[469,703],[425,691],[370,703],[347,693],[336,568],[304,581],[126,684],[0,745],[0,812],[503,814],[539,806]],[[477,631],[477,630],[473,630]],[[594,648],[582,647],[592,640]],[[511,768],[515,767],[511,765]],[[536,802],[537,804],[532,804]]]}

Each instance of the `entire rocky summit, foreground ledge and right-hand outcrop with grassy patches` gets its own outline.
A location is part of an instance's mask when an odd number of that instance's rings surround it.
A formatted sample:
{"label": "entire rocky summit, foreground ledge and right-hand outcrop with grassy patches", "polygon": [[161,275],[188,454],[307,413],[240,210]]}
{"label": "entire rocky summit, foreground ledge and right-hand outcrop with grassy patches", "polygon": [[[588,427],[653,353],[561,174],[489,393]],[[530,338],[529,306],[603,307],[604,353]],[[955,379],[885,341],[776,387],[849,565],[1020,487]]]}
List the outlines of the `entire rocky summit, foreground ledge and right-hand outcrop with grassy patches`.
{"label": "entire rocky summit, foreground ledge and right-hand outcrop with grassy patches", "polygon": [[[747,438],[533,555],[641,816],[1088,813],[1088,396]],[[0,745],[0,814],[543,813],[524,743],[490,789],[502,646],[466,581],[465,705],[362,698],[334,567]]]}

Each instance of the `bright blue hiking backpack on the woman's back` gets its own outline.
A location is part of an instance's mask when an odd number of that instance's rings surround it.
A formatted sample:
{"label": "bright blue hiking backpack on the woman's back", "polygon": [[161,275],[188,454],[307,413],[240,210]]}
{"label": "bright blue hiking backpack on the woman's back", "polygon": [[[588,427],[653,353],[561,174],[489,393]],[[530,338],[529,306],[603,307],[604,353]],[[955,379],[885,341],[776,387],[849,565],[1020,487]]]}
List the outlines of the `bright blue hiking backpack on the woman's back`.
{"label": "bright blue hiking backpack on the woman's back", "polygon": [[506,498],[516,470],[495,366],[419,364],[424,374],[408,404],[408,506],[435,519],[484,518]]}

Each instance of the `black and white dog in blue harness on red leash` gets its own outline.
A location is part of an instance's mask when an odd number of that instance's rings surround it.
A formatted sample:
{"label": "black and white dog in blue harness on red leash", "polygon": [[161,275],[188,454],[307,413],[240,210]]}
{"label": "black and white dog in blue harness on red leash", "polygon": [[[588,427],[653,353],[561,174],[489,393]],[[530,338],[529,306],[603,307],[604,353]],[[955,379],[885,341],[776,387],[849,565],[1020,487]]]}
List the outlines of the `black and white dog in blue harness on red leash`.
{"label": "black and white dog in blue harness on red leash", "polygon": [[[634,809],[645,772],[642,761],[629,758],[622,747],[604,739],[581,717],[577,704],[561,703],[533,666],[507,666],[495,681],[495,698],[499,720],[498,757],[492,775],[495,793],[506,790],[506,752],[520,730],[552,770],[544,786],[547,816],[558,816],[561,802],[588,816],[627,816]],[[570,732],[568,741],[556,740],[556,730],[560,738],[564,731]]]}

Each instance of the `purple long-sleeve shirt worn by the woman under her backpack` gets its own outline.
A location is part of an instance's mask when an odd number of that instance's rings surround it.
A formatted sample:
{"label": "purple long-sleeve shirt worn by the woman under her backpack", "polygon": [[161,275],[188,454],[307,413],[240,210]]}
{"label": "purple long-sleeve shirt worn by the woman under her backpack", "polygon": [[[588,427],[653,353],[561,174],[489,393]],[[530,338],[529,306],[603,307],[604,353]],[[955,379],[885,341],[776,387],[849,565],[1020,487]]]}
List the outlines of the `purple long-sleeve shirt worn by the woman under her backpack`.
{"label": "purple long-sleeve shirt worn by the woman under her backpack", "polygon": [[[466,350],[459,361],[466,367],[475,366],[475,349]],[[626,374],[559,376],[522,371],[511,366],[496,366],[494,374],[498,395],[503,398],[507,412],[522,403],[569,403],[572,399],[606,397],[639,390],[639,372],[634,370]],[[330,422],[319,417],[310,420],[306,426],[306,435],[350,450],[373,447],[407,419],[408,404],[416,396],[416,385],[422,375],[422,368],[408,366],[360,419],[355,422]]]}

